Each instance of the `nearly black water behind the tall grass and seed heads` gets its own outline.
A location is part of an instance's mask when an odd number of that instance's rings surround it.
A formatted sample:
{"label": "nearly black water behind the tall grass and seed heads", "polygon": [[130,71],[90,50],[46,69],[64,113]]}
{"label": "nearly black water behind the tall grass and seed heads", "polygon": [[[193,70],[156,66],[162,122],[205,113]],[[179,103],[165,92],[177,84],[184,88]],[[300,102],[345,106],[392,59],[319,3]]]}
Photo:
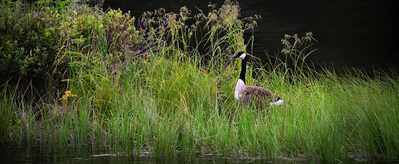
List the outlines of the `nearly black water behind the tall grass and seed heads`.
{"label": "nearly black water behind the tall grass and seed heads", "polygon": [[[212,0],[217,6],[223,2]],[[208,4],[206,0],[106,0],[104,8],[120,8],[138,18],[158,8],[175,13],[182,6],[193,12],[196,7],[208,11]],[[280,42],[284,34],[304,36],[312,32],[318,43],[312,45],[311,49],[317,50],[306,59],[308,63],[366,71],[377,66],[399,68],[399,7],[395,1],[239,0],[239,5],[243,17],[262,16],[254,30],[253,55],[263,60],[267,59],[265,51],[274,54],[284,48]]]}

